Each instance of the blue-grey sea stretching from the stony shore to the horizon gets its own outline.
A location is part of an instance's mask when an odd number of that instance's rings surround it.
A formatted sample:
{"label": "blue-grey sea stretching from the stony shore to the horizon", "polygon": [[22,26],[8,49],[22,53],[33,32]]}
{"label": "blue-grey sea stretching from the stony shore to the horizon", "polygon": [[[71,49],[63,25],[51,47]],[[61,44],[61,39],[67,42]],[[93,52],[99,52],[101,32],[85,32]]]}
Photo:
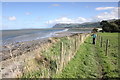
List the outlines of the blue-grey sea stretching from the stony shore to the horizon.
{"label": "blue-grey sea stretching from the stony shore to the horizon", "polygon": [[2,30],[1,32],[2,32],[2,43],[0,43],[0,45],[7,45],[10,43],[54,37],[56,33],[61,33],[61,32],[90,33],[91,30],[49,28],[49,29]]}

